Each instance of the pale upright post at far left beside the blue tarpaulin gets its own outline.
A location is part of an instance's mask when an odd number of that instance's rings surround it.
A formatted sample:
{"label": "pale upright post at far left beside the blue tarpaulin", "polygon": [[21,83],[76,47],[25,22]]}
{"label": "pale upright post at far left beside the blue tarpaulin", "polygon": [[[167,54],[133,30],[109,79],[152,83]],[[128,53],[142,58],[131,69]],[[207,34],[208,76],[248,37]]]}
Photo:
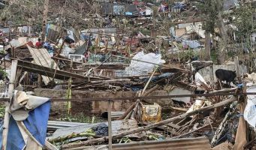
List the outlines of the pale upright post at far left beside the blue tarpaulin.
{"label": "pale upright post at far left beside the blue tarpaulin", "polygon": [[[10,98],[10,100],[13,97],[13,92],[14,92],[17,64],[18,64],[17,60],[13,60],[11,63],[11,77],[10,77],[10,84],[9,84],[9,90],[8,90],[8,98]],[[6,150],[6,146],[7,146],[8,129],[9,129],[8,127],[9,127],[9,121],[10,121],[9,107],[10,107],[10,103],[7,102],[5,107],[5,120],[4,120],[3,135],[2,135],[2,150]]]}

